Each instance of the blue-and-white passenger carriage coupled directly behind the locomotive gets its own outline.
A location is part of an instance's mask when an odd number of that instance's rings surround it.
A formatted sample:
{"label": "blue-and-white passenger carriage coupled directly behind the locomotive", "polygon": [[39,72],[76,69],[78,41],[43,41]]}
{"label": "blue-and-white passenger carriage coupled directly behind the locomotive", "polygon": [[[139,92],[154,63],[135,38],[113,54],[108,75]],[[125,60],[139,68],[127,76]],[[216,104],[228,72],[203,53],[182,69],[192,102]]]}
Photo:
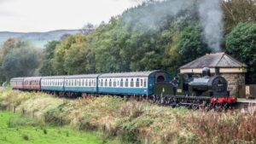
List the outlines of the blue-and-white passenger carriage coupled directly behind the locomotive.
{"label": "blue-and-white passenger carriage coupled directly behind the locomotive", "polygon": [[163,71],[106,73],[98,78],[98,92],[102,94],[153,95],[154,84],[168,83]]}

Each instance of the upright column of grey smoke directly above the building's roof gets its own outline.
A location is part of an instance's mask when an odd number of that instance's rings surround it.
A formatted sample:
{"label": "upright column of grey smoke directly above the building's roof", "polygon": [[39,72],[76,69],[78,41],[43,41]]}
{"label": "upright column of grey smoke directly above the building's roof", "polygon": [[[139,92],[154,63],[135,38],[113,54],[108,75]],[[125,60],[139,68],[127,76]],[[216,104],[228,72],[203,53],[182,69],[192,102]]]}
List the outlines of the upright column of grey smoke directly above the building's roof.
{"label": "upright column of grey smoke directly above the building's roof", "polygon": [[203,37],[213,52],[221,51],[223,40],[223,11],[219,0],[203,0],[199,14],[203,26]]}

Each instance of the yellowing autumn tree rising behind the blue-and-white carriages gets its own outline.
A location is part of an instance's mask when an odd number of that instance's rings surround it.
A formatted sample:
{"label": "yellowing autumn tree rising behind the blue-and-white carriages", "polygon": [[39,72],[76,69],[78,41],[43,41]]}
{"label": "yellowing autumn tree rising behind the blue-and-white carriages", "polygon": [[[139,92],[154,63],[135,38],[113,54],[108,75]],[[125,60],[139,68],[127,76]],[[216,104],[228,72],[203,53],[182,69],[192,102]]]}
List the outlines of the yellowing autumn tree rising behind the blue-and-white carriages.
{"label": "yellowing autumn tree rising behind the blue-and-white carriages", "polygon": [[[94,58],[90,56],[90,49],[86,45],[83,34],[75,34],[64,39],[56,46],[53,58],[55,74],[81,74],[95,72]],[[89,62],[92,60],[92,62]]]}

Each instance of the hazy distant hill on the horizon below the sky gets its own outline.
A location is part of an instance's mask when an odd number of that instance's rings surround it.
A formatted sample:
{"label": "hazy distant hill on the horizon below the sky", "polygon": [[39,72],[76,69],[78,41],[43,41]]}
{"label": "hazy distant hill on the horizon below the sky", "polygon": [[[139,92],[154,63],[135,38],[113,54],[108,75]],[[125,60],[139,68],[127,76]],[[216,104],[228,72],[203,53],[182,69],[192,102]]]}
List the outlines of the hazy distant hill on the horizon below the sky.
{"label": "hazy distant hill on the horizon below the sky", "polygon": [[0,32],[0,44],[9,37],[24,37],[38,48],[44,48],[44,44],[51,40],[59,40],[64,34],[76,34],[79,30],[56,30],[50,32]]}

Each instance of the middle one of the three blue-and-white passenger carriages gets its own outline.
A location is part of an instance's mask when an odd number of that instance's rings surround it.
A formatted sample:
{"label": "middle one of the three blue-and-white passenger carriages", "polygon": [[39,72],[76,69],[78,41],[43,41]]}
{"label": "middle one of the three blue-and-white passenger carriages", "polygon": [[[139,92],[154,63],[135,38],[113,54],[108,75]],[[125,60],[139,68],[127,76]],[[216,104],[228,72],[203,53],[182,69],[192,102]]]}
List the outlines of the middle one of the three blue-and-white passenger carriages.
{"label": "middle one of the three blue-and-white passenger carriages", "polygon": [[96,93],[99,74],[74,75],[65,77],[65,91]]}

